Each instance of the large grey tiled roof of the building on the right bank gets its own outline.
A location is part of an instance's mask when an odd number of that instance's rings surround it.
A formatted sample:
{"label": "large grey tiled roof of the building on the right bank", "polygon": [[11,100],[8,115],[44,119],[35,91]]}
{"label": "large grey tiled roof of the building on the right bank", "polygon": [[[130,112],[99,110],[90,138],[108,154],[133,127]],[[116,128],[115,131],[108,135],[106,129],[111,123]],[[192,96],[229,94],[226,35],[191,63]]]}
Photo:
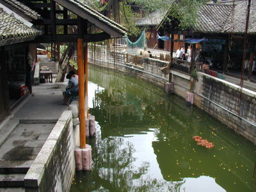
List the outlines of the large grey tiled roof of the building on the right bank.
{"label": "large grey tiled roof of the building on the right bank", "polygon": [[[245,30],[247,6],[248,0],[218,0],[217,3],[207,3],[198,11],[197,24],[190,29],[195,33],[242,34]],[[163,20],[157,28],[162,24]],[[256,34],[255,0],[251,1],[248,33]]]}

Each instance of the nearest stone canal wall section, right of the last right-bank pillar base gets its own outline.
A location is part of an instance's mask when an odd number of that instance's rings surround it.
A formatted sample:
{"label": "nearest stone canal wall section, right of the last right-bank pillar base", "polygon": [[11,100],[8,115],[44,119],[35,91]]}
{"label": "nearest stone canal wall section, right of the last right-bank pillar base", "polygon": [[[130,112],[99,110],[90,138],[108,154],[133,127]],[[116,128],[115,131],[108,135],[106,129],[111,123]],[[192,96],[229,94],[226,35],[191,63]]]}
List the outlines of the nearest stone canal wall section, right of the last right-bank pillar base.
{"label": "nearest stone canal wall section, right of the last right-bank pillar base", "polygon": [[256,143],[256,93],[205,74],[200,74],[200,83],[196,106]]}

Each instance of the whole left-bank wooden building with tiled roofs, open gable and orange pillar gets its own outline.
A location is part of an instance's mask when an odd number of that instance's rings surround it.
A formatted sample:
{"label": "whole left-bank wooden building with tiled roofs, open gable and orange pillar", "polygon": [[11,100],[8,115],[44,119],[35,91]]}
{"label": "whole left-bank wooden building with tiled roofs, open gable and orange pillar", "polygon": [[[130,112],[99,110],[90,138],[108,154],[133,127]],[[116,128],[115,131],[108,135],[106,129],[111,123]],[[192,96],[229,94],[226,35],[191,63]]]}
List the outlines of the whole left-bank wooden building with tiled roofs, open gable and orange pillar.
{"label": "whole left-bank wooden building with tiled roofs, open gable and orange pillar", "polygon": [[[120,24],[77,0],[0,0],[0,7],[0,122],[10,114],[12,99],[20,100],[21,87],[26,86],[32,92],[29,63],[36,61],[36,43],[77,42],[79,84],[85,84],[82,77],[86,71],[86,43],[121,38],[127,32]],[[79,102],[84,102],[84,95],[82,98],[79,90]]]}

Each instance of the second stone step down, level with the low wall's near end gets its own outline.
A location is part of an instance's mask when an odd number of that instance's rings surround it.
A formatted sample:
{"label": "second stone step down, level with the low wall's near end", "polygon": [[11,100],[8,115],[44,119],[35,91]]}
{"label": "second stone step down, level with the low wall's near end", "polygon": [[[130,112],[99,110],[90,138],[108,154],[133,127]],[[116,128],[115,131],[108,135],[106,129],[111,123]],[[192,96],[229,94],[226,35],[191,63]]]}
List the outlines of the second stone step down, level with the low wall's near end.
{"label": "second stone step down, level with the low wall's near end", "polygon": [[0,174],[0,188],[23,188],[26,174]]}

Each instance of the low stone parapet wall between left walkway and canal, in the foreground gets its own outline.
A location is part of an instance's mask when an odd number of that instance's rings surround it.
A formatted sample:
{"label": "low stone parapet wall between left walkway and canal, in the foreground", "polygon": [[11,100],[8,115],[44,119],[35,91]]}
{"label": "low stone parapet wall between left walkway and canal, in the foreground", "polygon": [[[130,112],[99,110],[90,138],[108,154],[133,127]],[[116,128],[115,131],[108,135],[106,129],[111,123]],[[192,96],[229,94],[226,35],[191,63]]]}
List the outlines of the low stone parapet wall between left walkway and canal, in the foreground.
{"label": "low stone parapet wall between left walkway and canal, in the foreground", "polygon": [[72,112],[64,111],[24,178],[26,191],[69,191],[76,170]]}

